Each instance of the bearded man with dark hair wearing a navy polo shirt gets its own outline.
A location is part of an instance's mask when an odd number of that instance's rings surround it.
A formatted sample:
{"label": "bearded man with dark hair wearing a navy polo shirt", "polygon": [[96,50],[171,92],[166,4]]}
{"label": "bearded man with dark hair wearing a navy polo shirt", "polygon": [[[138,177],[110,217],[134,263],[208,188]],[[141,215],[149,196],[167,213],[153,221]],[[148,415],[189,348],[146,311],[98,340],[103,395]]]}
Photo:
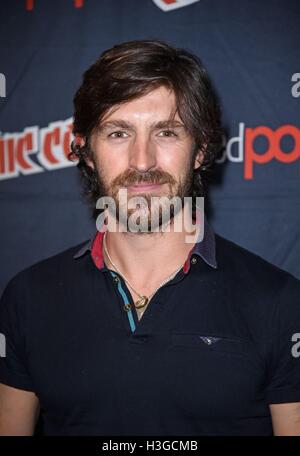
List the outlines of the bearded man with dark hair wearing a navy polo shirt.
{"label": "bearded man with dark hair wearing a navy polo shirt", "polygon": [[[48,435],[300,435],[300,282],[214,234],[195,204],[221,143],[201,62],[124,43],[74,102],[84,194],[118,229],[100,219],[88,243],[7,285],[0,433],[31,435],[40,410]],[[95,208],[104,196],[115,214]],[[161,207],[151,231],[155,196],[183,206],[167,220]],[[176,231],[186,197],[198,223]],[[121,231],[136,215],[145,230]],[[201,223],[203,239],[187,242]]]}

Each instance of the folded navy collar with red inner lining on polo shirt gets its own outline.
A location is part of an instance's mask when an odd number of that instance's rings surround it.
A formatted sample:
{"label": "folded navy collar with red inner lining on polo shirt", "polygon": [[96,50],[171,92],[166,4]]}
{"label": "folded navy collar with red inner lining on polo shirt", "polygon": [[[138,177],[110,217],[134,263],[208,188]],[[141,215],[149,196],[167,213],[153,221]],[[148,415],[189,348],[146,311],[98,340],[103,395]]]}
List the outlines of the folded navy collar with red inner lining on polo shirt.
{"label": "folded navy collar with red inner lining on polo shirt", "polygon": [[[86,252],[90,251],[93,262],[95,266],[102,270],[104,269],[104,261],[103,261],[103,254],[102,254],[102,242],[103,236],[105,233],[106,227],[102,225],[100,227],[100,231],[97,231],[93,236],[90,238],[88,242],[86,242],[76,253],[73,255],[73,258],[80,258]],[[190,260],[192,255],[200,256],[209,266],[212,268],[217,269],[217,261],[216,261],[216,242],[215,242],[215,234],[207,221],[206,216],[204,215],[204,232],[203,232],[203,239],[200,242],[196,242],[194,246],[191,248],[188,257],[184,263],[183,271],[188,273],[190,269]]]}

